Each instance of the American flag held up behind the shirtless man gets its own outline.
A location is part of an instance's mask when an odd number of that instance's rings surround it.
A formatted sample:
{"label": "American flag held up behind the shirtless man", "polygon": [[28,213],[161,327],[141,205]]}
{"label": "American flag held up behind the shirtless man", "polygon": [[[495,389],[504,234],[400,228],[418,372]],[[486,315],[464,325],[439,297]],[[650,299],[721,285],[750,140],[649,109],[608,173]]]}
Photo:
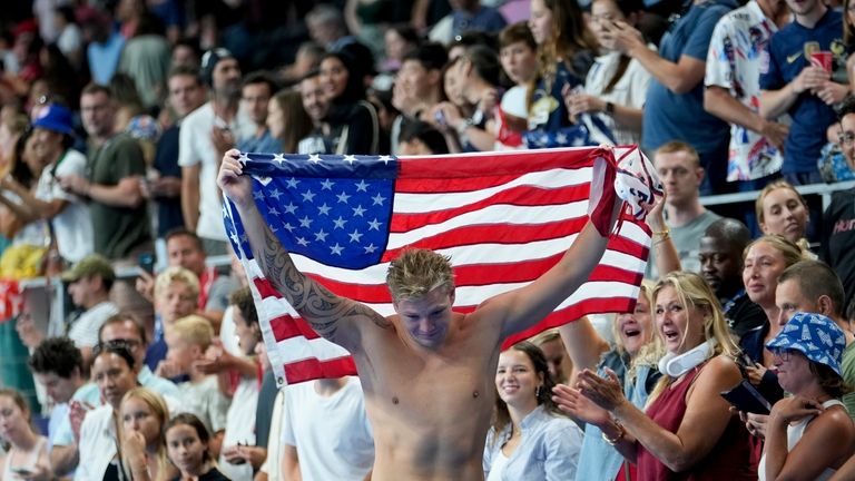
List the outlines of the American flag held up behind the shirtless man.
{"label": "American flag held up behind the shirtless man", "polygon": [[[640,155],[637,148],[562,148],[402,158],[243,154],[240,160],[253,177],[256,206],[297,268],[332,292],[391,315],[385,275],[404,248],[451,256],[454,310],[471,312],[561,258],[588,222],[598,156]],[[224,216],[250,279],[277,380],[355,374],[350,354],[312,331],[265,279],[227,199]],[[649,228],[625,214],[589,281],[505,344],[584,314],[632,308],[649,247]]]}

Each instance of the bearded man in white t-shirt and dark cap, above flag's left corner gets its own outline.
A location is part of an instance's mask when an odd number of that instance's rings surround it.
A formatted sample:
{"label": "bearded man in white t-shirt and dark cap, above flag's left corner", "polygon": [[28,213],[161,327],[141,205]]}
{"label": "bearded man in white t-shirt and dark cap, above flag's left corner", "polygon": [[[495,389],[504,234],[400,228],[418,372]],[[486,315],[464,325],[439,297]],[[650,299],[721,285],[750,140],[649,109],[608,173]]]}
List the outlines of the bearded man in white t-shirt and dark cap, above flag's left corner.
{"label": "bearded man in white t-shirt and dark cap, above flag's left corner", "polygon": [[210,88],[210,100],[185,117],[179,132],[181,210],[186,227],[202,238],[205,252],[225,255],[228,242],[223,213],[212,186],[223,151],[253,135],[255,126],[238,110],[240,68],[228,50],[207,51],[202,58],[202,77]]}

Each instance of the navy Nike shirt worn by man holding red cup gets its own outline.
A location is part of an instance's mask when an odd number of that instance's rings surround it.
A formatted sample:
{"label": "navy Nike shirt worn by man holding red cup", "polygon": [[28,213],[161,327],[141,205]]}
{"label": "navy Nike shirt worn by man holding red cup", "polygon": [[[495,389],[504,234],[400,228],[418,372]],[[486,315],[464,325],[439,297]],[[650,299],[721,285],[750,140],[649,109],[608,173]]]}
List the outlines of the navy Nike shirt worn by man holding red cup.
{"label": "navy Nike shirt worn by man holding red cup", "polygon": [[[809,51],[831,51],[835,70],[846,66],[851,49],[843,43],[843,17],[828,9],[814,28],[790,22],[772,36],[760,65],[760,89],[778,90],[810,65]],[[764,71],[764,66],[767,68]],[[808,91],[802,92],[788,110],[793,118],[784,144],[784,174],[816,171],[825,145],[825,130],[837,120],[834,109]]]}

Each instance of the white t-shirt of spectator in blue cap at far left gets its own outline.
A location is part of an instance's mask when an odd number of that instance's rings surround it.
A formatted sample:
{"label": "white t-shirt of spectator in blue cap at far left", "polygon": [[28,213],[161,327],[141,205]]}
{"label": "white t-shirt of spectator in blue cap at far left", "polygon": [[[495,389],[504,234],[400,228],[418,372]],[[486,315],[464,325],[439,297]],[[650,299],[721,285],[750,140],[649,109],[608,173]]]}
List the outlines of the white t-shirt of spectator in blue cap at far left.
{"label": "white t-shirt of spectator in blue cap at far left", "polygon": [[76,263],[95,251],[92,217],[89,206],[79,196],[63,189],[58,177],[68,175],[86,176],[86,157],[77,150],[67,150],[59,164],[46,167],[36,186],[36,198],[51,202],[68,200],[68,205],[51,224],[57,237],[57,249],[63,259]]}

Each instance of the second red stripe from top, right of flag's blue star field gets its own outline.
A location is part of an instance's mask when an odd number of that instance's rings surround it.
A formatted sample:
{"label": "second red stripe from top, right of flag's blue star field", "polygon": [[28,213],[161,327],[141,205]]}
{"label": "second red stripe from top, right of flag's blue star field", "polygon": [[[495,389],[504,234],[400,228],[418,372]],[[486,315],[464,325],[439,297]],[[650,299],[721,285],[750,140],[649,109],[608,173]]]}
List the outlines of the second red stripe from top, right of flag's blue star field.
{"label": "second red stripe from top, right of flag's blue star field", "polygon": [[497,193],[483,200],[445,210],[417,214],[395,213],[392,216],[389,229],[392,233],[405,233],[424,225],[439,224],[450,218],[481,210],[493,205],[564,205],[588,199],[590,192],[590,184],[560,189],[535,188],[531,186],[512,187],[508,190]]}

